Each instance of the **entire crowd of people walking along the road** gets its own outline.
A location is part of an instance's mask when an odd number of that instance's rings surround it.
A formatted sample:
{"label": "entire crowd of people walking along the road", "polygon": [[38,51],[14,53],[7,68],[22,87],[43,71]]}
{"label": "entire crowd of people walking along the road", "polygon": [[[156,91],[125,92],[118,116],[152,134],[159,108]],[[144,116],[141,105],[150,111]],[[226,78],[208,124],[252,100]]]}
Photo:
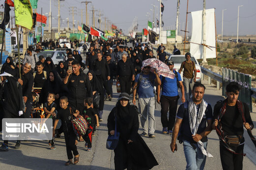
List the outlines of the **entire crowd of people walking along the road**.
{"label": "entire crowd of people walking along the road", "polygon": [[[6,59],[0,74],[0,116],[43,116],[52,119],[53,139],[48,144],[50,149],[56,149],[56,137],[64,133],[68,158],[65,165],[79,163],[80,156],[76,147],[78,141],[85,141],[85,148],[91,151],[92,136],[99,122],[103,121],[104,101],[112,100],[112,86],[117,80],[121,86],[121,95],[107,120],[108,133],[116,133],[117,122],[117,131],[121,134],[114,150],[116,170],[151,169],[158,165],[141,138],[156,137],[156,102],[161,105],[162,133],[172,136],[171,151],[177,150],[177,138],[183,142],[186,169],[204,169],[206,156],[212,156],[206,151],[207,135],[212,129],[216,129],[218,135],[220,132],[220,154],[224,170],[230,167],[242,169],[243,126],[252,130],[254,125],[248,105],[237,100],[240,86],[235,82],[226,86],[227,98],[218,102],[212,110],[211,105],[203,99],[205,86],[196,83],[195,64],[191,61],[189,52],[185,55],[186,61],[181,64],[179,71],[176,71],[173,69],[175,63],[168,59],[163,44],[157,49],[156,57],[150,45],[136,41],[132,48],[128,48],[122,39],[99,39],[92,41],[88,51],[85,51],[85,65],[78,51],[66,49],[66,57],[57,67],[51,57],[36,55],[38,51],[43,50],[41,48],[39,44],[35,50],[32,47],[27,50],[21,63],[21,72],[18,62],[14,63],[12,57]],[[174,47],[173,53],[179,55],[180,51]],[[164,62],[175,74],[174,78],[159,75],[156,70],[154,73],[150,72],[151,65],[142,67],[142,62],[150,58]],[[87,73],[84,72],[85,68],[89,70]],[[182,70],[183,80],[180,75]],[[177,111],[179,89],[183,104]],[[99,97],[98,105],[94,103],[96,97]],[[136,99],[138,108],[135,106]],[[76,136],[72,129],[72,116],[78,115],[85,118],[89,127],[83,136]],[[140,135],[139,118],[143,128]],[[65,123],[57,128],[59,120]],[[231,145],[226,142],[228,140],[237,143]],[[21,141],[17,141],[15,148],[20,146]],[[8,151],[8,140],[3,141],[0,149]]]}

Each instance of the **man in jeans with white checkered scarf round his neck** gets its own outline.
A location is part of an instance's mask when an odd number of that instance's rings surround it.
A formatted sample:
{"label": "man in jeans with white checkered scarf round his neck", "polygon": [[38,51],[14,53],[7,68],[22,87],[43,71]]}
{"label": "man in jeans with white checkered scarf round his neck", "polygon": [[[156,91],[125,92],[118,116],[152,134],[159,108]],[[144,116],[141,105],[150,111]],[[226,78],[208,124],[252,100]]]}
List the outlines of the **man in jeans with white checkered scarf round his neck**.
{"label": "man in jeans with white checkered scarf round his neck", "polygon": [[180,105],[173,128],[171,151],[177,150],[176,139],[180,129],[179,141],[183,142],[186,170],[203,170],[206,156],[212,157],[206,147],[213,115],[211,105],[203,100],[204,91],[203,84],[194,84],[192,98]]}

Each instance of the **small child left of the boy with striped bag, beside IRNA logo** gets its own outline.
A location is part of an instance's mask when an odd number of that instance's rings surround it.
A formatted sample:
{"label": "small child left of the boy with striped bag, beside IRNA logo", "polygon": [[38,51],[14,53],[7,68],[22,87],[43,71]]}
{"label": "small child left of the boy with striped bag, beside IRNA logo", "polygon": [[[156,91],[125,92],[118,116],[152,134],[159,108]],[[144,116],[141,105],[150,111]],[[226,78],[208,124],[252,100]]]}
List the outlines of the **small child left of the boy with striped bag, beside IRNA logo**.
{"label": "small child left of the boy with striped bag, beside IRNA logo", "polygon": [[[55,94],[49,93],[47,97],[47,103],[43,104],[43,109],[45,112],[45,118],[51,118],[53,120],[53,123],[56,120],[56,107],[57,105],[54,103],[55,100]],[[51,150],[56,149],[55,147],[55,137],[53,137],[52,141],[49,141],[49,146],[51,146]]]}

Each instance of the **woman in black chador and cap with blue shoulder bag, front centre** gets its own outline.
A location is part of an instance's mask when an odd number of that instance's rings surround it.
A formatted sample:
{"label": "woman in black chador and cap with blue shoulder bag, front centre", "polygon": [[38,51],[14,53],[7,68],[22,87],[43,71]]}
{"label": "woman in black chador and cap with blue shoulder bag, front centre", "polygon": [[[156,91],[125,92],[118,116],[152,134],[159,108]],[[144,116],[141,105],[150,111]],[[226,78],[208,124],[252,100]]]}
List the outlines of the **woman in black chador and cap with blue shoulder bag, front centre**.
{"label": "woman in black chador and cap with blue shoulder bag, front centre", "polygon": [[138,109],[129,103],[129,95],[122,93],[108,116],[108,133],[115,133],[115,117],[119,142],[114,150],[115,170],[150,170],[158,165],[153,153],[138,134]]}

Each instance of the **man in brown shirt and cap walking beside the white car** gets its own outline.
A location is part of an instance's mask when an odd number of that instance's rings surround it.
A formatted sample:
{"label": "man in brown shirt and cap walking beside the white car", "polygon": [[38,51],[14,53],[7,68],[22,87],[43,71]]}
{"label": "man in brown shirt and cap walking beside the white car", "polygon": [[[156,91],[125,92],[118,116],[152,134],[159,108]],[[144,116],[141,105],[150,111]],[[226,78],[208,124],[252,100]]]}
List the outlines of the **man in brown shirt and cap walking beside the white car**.
{"label": "man in brown shirt and cap walking beside the white car", "polygon": [[190,100],[191,96],[191,90],[196,82],[196,69],[195,69],[195,64],[193,61],[191,61],[191,54],[187,52],[185,54],[186,61],[182,62],[179,73],[183,71],[183,84],[184,84],[184,89],[185,89],[185,98],[186,101]]}

